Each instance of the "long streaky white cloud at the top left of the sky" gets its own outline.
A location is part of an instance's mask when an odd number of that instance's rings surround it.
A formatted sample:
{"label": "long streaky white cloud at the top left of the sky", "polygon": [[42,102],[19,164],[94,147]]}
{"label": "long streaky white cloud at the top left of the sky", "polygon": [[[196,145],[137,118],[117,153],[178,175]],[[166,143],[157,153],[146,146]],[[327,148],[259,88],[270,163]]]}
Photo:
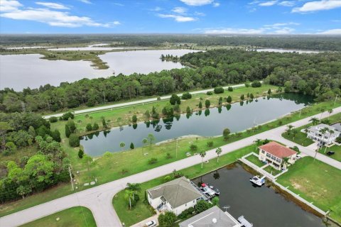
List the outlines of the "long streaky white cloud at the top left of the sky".
{"label": "long streaky white cloud at the top left of the sky", "polygon": [[[3,10],[5,3],[5,11]],[[74,16],[69,12],[55,11],[51,9],[24,8],[18,1],[1,0],[0,17],[11,18],[13,20],[37,21],[47,23],[50,26],[76,28],[82,26],[112,28],[119,25],[119,21],[99,23],[87,16]]]}

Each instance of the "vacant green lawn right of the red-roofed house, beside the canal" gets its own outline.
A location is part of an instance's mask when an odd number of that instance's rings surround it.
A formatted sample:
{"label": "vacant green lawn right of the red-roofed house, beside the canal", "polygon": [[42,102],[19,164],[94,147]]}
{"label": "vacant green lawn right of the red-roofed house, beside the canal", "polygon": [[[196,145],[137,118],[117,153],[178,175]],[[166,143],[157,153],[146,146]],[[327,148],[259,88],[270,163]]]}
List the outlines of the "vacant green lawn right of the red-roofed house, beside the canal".
{"label": "vacant green lawn right of the red-roofed house, beside the canal", "polygon": [[330,216],[341,221],[341,170],[331,167],[313,157],[303,157],[288,167],[288,172],[278,177],[277,182],[312,201]]}

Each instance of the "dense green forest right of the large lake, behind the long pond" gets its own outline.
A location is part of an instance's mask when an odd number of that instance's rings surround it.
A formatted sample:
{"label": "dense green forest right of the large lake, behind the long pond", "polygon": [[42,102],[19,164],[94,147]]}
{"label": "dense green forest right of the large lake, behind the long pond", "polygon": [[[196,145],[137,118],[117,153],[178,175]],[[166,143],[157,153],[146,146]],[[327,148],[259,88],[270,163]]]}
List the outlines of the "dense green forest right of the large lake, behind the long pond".
{"label": "dense green forest right of the large lake, behind the long pond", "polygon": [[[284,87],[285,92],[310,94],[320,101],[340,94],[340,52],[298,54],[212,50],[189,53],[181,57],[181,60],[197,66],[199,74],[209,74],[211,77],[206,77],[207,81],[202,84],[211,81],[212,87],[221,83],[262,79],[266,83]],[[252,87],[259,85],[258,82],[251,84]]]}

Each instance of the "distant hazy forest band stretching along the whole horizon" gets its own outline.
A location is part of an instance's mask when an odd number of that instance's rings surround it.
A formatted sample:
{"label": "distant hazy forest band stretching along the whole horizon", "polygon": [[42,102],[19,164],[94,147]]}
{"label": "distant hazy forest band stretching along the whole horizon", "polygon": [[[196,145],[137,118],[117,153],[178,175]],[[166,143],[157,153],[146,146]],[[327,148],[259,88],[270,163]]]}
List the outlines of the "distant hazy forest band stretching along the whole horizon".
{"label": "distant hazy forest band stretching along the whole horizon", "polygon": [[165,46],[176,43],[188,46],[237,45],[262,48],[294,48],[305,50],[341,50],[338,36],[325,35],[1,35],[1,45],[65,45],[114,43],[113,46]]}

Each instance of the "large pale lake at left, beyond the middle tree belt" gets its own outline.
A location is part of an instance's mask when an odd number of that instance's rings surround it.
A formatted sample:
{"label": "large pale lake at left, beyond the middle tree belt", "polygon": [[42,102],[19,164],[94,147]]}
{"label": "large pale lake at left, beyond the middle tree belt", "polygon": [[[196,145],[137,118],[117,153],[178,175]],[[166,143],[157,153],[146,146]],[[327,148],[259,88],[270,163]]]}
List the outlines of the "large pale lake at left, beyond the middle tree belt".
{"label": "large pale lake at left, beyond the middle tree belt", "polygon": [[175,62],[161,61],[161,55],[182,56],[195,50],[136,50],[108,52],[99,55],[109,65],[108,70],[96,70],[88,61],[40,59],[43,55],[0,55],[0,89],[20,91],[40,85],[58,86],[60,82],[75,82],[82,78],[109,77],[115,74],[149,73],[181,68]]}

